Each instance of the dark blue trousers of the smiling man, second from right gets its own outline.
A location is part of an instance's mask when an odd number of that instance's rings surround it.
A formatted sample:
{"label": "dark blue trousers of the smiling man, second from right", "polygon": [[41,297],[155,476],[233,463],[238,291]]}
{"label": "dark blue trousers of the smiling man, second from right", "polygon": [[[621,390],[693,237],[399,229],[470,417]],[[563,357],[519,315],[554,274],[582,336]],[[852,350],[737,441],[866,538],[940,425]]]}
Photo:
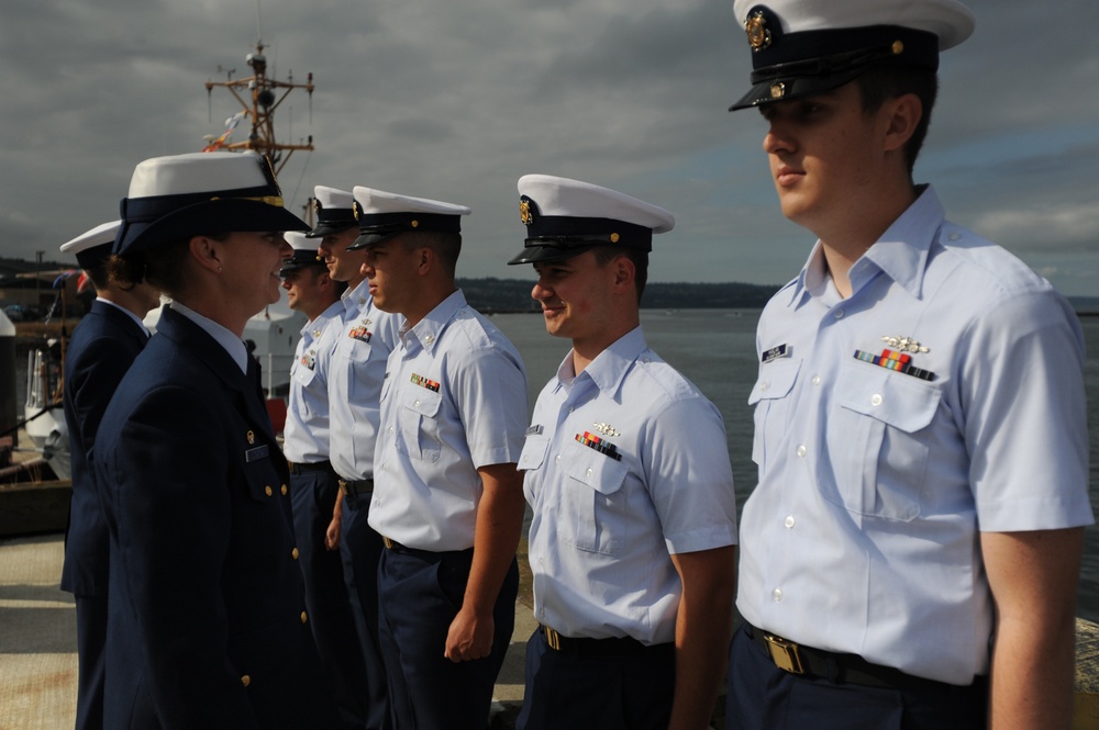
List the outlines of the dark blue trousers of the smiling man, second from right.
{"label": "dark blue trousers of the smiling man, second from right", "polygon": [[673,643],[586,655],[551,649],[539,629],[526,642],[526,688],[515,728],[666,730],[675,684]]}

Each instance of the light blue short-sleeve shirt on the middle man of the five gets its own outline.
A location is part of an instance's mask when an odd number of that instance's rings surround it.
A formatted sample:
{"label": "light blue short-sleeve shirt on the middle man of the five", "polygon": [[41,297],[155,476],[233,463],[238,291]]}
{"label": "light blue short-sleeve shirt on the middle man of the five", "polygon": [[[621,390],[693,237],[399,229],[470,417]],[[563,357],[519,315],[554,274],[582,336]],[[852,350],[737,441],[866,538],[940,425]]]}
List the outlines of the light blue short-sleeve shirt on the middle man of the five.
{"label": "light blue short-sleeve shirt on the middle man of the five", "polygon": [[477,469],[519,461],[526,413],[518,350],[455,291],[389,357],[370,527],[419,550],[471,548]]}

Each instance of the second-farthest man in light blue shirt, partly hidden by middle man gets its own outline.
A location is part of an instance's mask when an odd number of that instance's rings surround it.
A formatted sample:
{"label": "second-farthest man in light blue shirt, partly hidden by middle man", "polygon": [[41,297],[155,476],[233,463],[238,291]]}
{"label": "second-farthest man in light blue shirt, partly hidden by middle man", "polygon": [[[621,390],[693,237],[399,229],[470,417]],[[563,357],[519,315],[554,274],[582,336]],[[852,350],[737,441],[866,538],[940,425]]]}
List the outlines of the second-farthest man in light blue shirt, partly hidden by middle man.
{"label": "second-farthest man in light blue shirt, partly hidden by middle man", "polygon": [[378,398],[399,324],[397,317],[374,306],[366,277],[359,271],[364,256],[348,250],[358,237],[352,194],[325,186],[317,186],[313,194],[317,227],[307,235],[320,238],[318,254],[329,276],[347,284],[340,297],[340,322],[334,323],[329,375],[330,458],[340,480],[329,544],[338,544],[344,561],[366,662],[366,727],[375,730],[390,727],[390,710],[378,644],[381,536],[370,528],[367,514],[374,493]]}

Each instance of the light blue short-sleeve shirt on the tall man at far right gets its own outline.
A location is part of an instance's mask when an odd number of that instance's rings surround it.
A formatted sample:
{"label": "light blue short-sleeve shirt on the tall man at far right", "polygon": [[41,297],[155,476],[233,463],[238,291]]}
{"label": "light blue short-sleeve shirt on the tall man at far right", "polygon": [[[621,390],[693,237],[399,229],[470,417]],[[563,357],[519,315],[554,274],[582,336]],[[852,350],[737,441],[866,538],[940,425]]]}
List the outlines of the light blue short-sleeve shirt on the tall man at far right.
{"label": "light blue short-sleeve shirt on the tall man at far right", "polygon": [[1094,521],[1079,322],[930,188],[850,276],[841,299],[818,245],[761,318],[736,605],[967,685],[992,630],[979,531]]}

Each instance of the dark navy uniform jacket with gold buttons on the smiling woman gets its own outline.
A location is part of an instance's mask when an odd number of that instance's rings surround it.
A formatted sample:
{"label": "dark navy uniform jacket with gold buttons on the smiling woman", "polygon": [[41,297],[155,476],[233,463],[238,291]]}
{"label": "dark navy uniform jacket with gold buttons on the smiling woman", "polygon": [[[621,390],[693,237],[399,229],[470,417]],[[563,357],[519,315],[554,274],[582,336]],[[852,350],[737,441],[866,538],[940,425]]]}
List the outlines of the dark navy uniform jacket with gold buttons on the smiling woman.
{"label": "dark navy uniform jacket with gold buttons on the smiling woman", "polygon": [[111,536],[107,727],[332,727],[258,375],[166,306],[92,458]]}

